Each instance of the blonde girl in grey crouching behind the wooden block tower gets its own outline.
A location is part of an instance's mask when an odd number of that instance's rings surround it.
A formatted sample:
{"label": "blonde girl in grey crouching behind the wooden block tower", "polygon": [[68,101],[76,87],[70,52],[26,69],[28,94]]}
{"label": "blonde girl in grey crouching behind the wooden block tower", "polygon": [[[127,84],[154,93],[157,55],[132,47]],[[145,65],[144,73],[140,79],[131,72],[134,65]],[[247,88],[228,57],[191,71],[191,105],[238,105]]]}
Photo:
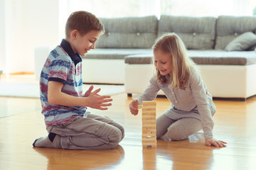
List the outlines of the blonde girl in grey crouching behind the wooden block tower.
{"label": "blonde girl in grey crouching behind the wooden block tower", "polygon": [[185,140],[203,128],[207,146],[225,147],[213,138],[212,96],[206,90],[196,64],[186,55],[186,47],[175,33],[163,35],[153,45],[155,73],[144,94],[129,104],[133,115],[138,104],[153,101],[161,89],[171,107],[156,118],[156,138],[166,134],[171,140]]}

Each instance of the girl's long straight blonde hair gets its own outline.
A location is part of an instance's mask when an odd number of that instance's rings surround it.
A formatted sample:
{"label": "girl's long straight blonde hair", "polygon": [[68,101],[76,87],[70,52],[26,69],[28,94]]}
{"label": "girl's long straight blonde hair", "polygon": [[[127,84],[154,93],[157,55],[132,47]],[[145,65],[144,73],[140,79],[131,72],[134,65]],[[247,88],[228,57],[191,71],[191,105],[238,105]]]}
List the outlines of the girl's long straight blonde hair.
{"label": "girl's long straight blonde hair", "polygon": [[169,53],[172,59],[172,72],[163,76],[159,69],[155,67],[154,77],[161,84],[169,84],[173,88],[185,89],[191,71],[199,72],[197,65],[188,57],[186,46],[181,38],[175,33],[166,33],[162,35],[153,45],[153,52],[161,50]]}

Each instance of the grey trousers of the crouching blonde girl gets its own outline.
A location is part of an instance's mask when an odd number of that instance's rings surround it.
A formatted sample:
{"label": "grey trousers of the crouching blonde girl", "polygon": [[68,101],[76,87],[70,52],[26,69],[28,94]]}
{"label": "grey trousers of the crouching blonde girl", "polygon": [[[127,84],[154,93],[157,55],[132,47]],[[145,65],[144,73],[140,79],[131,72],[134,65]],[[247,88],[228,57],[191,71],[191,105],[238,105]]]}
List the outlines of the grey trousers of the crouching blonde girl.
{"label": "grey trousers of the crouching blonde girl", "polygon": [[166,135],[171,140],[185,140],[202,129],[201,121],[197,118],[181,118],[173,120],[162,114],[156,118],[156,138]]}

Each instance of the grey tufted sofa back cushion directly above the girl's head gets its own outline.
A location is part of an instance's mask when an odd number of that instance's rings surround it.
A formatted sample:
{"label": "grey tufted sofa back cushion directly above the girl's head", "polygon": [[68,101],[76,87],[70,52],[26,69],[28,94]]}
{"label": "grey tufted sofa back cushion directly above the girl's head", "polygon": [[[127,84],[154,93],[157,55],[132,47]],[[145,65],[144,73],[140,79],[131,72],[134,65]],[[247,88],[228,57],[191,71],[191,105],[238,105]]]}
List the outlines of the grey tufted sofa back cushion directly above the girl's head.
{"label": "grey tufted sofa back cushion directly above the girl's head", "polygon": [[162,15],[159,20],[158,35],[176,33],[188,50],[208,50],[215,43],[214,17],[187,17]]}

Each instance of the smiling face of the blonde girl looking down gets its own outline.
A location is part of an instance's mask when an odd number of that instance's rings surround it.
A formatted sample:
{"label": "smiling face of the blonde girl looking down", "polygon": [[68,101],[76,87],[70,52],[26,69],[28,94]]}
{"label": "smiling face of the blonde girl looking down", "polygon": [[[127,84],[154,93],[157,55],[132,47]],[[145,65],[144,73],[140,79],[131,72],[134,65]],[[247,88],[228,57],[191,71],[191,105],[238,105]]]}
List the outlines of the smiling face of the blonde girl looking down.
{"label": "smiling face of the blonde girl looking down", "polygon": [[154,52],[154,65],[159,69],[161,75],[165,76],[172,72],[172,59],[171,54],[156,50]]}

